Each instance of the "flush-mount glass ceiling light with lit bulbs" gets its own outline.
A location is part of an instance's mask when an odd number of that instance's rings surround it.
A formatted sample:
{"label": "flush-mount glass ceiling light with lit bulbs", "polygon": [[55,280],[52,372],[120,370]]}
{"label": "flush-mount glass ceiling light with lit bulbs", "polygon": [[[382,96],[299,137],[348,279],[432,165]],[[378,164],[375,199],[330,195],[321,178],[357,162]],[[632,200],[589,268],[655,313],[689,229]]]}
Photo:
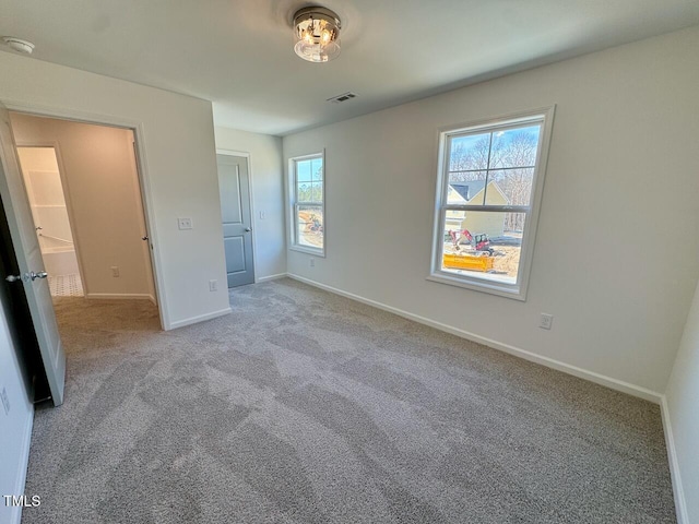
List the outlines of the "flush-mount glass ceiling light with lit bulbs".
{"label": "flush-mount glass ceiling light with lit bulbs", "polygon": [[294,51],[309,62],[340,55],[340,17],[325,8],[304,8],[294,15]]}

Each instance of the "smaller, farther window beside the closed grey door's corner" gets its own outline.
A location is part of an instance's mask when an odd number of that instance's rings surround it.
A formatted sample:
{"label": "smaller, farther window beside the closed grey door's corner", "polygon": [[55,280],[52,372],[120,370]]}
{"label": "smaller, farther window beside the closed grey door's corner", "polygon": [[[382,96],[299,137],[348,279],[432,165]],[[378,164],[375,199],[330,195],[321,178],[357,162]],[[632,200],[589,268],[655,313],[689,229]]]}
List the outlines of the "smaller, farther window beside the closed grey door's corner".
{"label": "smaller, farther window beside the closed grey door's corner", "polygon": [[291,248],[324,255],[323,154],[289,160]]}

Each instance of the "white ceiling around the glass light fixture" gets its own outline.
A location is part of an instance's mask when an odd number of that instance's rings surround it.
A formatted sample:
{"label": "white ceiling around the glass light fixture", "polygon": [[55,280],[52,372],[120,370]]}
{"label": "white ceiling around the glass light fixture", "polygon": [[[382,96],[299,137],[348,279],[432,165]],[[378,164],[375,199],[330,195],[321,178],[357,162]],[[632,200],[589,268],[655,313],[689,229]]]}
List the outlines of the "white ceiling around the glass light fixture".
{"label": "white ceiling around the glass light fixture", "polygon": [[[293,51],[301,0],[0,0],[33,57],[214,104],[225,126],[283,135],[512,71],[699,24],[699,0],[319,0],[342,52]],[[9,51],[7,47],[0,49]],[[357,98],[327,98],[352,91]]]}

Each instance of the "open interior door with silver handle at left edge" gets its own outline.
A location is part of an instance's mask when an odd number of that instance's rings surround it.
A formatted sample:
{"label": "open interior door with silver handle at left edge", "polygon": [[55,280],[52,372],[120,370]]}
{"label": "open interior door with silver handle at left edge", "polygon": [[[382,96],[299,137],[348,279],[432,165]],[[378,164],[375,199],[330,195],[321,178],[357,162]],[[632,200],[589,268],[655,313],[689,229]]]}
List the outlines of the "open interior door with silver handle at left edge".
{"label": "open interior door with silver handle at left edge", "polygon": [[14,148],[8,109],[0,104],[0,194],[20,264],[14,285],[24,286],[55,405],[63,403],[66,353],[58,334],[44,260]]}

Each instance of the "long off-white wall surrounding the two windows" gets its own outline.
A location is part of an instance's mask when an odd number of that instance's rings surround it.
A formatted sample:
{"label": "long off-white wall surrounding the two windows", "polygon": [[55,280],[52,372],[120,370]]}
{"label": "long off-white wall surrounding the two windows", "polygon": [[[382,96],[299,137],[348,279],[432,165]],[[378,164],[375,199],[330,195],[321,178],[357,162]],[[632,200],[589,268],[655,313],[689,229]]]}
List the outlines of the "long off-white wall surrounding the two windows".
{"label": "long off-white wall surrounding the two windows", "polygon": [[[699,276],[697,49],[694,27],[285,136],[327,180],[327,258],[289,273],[659,400]],[[426,281],[438,128],[552,104],[528,300]]]}

